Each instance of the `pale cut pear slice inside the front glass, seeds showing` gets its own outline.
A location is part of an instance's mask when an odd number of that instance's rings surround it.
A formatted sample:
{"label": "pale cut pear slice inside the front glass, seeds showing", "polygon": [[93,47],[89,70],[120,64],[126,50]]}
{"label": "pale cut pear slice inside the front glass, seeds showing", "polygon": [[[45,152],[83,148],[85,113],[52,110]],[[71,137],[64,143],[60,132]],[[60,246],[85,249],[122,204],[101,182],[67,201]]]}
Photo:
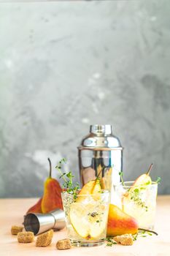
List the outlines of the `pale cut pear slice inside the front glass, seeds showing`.
{"label": "pale cut pear slice inside the front glass, seeds showing", "polygon": [[[88,206],[88,205],[87,205]],[[93,209],[93,208],[92,208]],[[82,203],[72,203],[69,217],[74,230],[82,238],[98,238],[107,227],[107,211],[103,205],[91,211]]]}

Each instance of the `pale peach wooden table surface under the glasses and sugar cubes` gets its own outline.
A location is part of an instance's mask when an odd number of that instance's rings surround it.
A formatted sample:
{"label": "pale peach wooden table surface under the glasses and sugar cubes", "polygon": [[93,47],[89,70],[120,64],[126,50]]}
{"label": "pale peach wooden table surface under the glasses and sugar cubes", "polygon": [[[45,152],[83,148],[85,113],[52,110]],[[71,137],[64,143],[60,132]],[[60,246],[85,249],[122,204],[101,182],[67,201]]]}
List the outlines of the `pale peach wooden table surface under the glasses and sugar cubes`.
{"label": "pale peach wooden table surface under the glasses and sugar cubes", "polygon": [[55,232],[53,242],[47,247],[36,247],[31,244],[19,244],[17,236],[12,236],[12,225],[20,225],[23,215],[37,199],[0,199],[0,255],[89,255],[89,256],[170,256],[170,195],[158,196],[155,230],[158,236],[139,238],[133,246],[114,245],[90,248],[74,247],[69,250],[55,248],[56,241],[66,238],[66,230]]}

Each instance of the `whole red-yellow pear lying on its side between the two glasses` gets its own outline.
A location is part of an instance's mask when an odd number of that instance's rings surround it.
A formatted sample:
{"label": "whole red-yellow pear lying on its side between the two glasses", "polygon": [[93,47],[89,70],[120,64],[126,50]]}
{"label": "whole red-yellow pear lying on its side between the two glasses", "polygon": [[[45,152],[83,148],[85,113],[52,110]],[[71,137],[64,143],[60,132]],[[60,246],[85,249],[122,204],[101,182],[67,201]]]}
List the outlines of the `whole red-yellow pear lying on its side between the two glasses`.
{"label": "whole red-yellow pear lying on its side between the two glasses", "polygon": [[109,205],[107,236],[121,236],[127,233],[134,235],[138,232],[138,228],[138,222],[134,217],[125,214],[113,204]]}

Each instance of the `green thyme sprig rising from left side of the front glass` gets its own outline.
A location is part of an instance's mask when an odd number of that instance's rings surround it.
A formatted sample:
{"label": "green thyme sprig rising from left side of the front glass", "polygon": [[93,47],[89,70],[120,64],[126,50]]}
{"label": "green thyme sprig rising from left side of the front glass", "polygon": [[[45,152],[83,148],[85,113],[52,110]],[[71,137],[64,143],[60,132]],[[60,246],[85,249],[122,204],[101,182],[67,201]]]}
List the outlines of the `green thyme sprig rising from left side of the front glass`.
{"label": "green thyme sprig rising from left side of the front glass", "polygon": [[74,198],[77,195],[77,190],[80,189],[79,184],[76,182],[75,184],[73,183],[72,178],[74,178],[74,176],[72,175],[72,171],[69,171],[68,173],[63,173],[61,170],[61,167],[63,164],[66,163],[66,159],[62,158],[59,162],[58,165],[55,166],[55,168],[59,171],[59,173],[61,174],[60,178],[63,178],[63,189],[66,189],[66,192],[68,192],[69,194],[73,194]]}

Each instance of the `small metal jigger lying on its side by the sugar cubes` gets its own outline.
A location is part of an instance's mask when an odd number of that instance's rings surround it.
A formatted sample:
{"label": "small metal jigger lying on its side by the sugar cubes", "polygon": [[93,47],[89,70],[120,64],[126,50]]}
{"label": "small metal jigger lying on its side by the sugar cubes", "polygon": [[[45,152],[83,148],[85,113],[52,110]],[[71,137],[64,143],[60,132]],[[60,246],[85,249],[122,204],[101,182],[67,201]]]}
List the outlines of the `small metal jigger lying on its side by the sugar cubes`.
{"label": "small metal jigger lying on its side by the sugar cubes", "polygon": [[23,225],[26,231],[31,231],[34,235],[39,235],[51,228],[61,230],[66,226],[64,211],[55,209],[47,214],[27,214]]}

